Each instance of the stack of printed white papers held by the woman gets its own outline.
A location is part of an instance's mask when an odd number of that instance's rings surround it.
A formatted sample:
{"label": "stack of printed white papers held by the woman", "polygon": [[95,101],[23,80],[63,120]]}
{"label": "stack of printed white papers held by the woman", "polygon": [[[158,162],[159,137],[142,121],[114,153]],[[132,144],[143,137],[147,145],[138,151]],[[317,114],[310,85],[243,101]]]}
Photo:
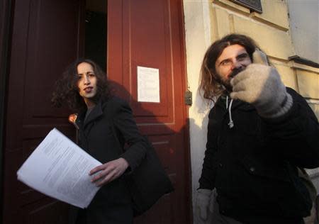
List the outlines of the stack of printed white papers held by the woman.
{"label": "stack of printed white papers held by the woman", "polygon": [[101,162],[53,129],[18,170],[18,180],[47,196],[80,208],[99,190],[89,171]]}

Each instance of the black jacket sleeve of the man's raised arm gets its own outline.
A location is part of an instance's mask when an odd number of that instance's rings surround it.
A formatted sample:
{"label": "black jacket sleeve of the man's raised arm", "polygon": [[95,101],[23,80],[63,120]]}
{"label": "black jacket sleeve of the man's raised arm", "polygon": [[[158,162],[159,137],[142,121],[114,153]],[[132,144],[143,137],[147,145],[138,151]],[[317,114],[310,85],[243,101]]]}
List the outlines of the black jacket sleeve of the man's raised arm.
{"label": "black jacket sleeve of the man's raised arm", "polygon": [[315,113],[301,95],[287,88],[293,106],[283,117],[264,120],[269,146],[298,167],[319,167],[319,125]]}

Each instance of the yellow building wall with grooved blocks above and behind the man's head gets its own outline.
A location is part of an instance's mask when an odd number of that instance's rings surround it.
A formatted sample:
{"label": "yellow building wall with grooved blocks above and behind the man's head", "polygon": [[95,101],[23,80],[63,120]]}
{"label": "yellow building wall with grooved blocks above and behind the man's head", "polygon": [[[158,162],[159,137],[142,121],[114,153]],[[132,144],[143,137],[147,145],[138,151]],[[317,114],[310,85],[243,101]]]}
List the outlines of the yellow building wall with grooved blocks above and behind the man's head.
{"label": "yellow building wall with grooved blocks above and behind the man's head", "polygon": [[284,84],[305,97],[319,118],[319,69],[289,61],[294,48],[286,1],[264,0],[260,14],[228,0],[213,0],[210,7],[211,42],[228,33],[249,35],[279,70]]}

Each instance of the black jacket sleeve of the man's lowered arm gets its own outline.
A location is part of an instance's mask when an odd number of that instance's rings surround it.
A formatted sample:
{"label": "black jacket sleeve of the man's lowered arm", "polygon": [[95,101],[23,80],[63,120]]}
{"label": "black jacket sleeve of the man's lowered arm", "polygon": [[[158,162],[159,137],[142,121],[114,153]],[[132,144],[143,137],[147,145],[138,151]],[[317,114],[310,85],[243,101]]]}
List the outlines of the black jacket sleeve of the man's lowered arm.
{"label": "black jacket sleeve of the man's lowered arm", "polygon": [[200,189],[213,189],[215,187],[216,166],[214,159],[217,146],[217,133],[216,125],[213,120],[213,113],[214,111],[212,109],[208,115],[207,143],[205,157],[203,159],[203,168],[199,179]]}

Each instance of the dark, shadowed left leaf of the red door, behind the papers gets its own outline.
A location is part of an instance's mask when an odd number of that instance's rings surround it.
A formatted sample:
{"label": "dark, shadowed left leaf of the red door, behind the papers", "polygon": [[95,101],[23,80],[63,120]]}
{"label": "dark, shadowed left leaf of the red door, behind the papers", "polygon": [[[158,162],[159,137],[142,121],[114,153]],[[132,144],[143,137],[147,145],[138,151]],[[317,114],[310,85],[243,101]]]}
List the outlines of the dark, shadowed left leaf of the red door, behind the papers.
{"label": "dark, shadowed left leaf of the red door, behind the papers", "polygon": [[16,171],[53,127],[74,136],[74,128],[67,124],[69,112],[52,108],[50,95],[57,77],[81,51],[83,1],[14,2],[1,221],[62,224],[67,222],[67,205],[17,181]]}

